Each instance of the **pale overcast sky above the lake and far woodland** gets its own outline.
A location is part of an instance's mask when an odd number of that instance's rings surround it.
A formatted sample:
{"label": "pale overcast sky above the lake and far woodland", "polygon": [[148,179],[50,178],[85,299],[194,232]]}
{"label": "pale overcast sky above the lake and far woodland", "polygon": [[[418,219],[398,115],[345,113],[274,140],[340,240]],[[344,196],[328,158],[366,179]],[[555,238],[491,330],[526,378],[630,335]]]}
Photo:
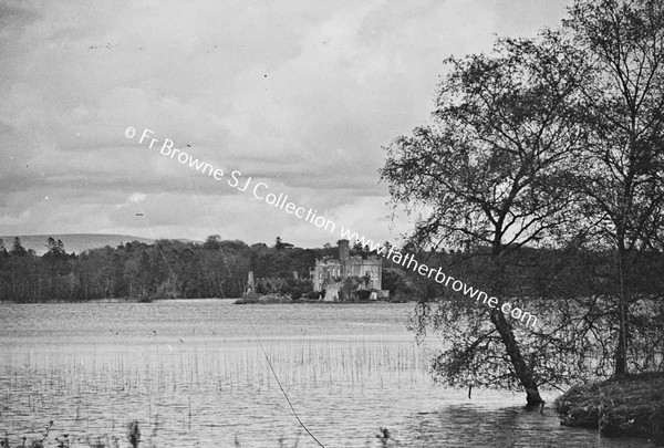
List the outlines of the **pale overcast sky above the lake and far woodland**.
{"label": "pale overcast sky above the lake and far woodland", "polygon": [[339,239],[231,188],[240,170],[398,242],[407,217],[391,223],[377,169],[384,146],[428,119],[442,61],[557,28],[567,3],[0,1],[0,235]]}

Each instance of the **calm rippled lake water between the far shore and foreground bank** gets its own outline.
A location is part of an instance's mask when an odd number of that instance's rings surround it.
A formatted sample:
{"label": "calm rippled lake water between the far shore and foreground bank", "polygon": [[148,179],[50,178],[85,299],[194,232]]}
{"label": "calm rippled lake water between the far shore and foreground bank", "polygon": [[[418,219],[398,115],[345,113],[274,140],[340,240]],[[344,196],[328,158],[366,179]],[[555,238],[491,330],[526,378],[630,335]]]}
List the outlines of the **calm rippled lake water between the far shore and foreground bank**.
{"label": "calm rippled lake water between the far shore and foreground bank", "polygon": [[[444,389],[405,330],[412,304],[0,304],[0,435],[127,446],[650,447],[560,427],[501,392]],[[262,348],[261,348],[262,345]],[[264,353],[263,353],[264,351]],[[269,362],[268,362],[269,360]],[[274,374],[270,369],[270,364]],[[552,403],[556,394],[544,394]]]}

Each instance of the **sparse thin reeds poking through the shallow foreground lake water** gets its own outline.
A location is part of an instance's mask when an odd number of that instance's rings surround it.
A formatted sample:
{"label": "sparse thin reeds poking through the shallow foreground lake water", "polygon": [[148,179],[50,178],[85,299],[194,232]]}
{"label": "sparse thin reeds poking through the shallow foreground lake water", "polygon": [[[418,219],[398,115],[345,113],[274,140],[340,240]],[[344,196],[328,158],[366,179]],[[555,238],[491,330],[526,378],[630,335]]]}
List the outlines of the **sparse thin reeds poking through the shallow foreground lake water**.
{"label": "sparse thin reeds poking through the shallow foreground lake water", "polygon": [[[339,425],[353,419],[346,413],[375,413],[352,408],[340,414],[338,409],[339,418],[330,421],[314,410],[323,396],[343,392],[349,397],[378,397],[381,390],[401,388],[408,395],[412,387],[430,381],[422,351],[405,338],[270,336],[263,340],[264,354],[250,337],[158,335],[154,340],[148,346],[124,343],[9,355],[4,366],[9,374],[0,375],[2,426],[9,431],[6,445],[11,440],[11,448],[20,447],[17,435],[37,440],[34,423],[52,418],[59,433],[66,428],[69,434],[68,440],[63,436],[59,440],[72,448],[113,447],[115,439],[122,446],[123,440],[128,442],[123,434],[127,416],[141,423],[141,428],[159,427],[158,436],[141,435],[152,440],[151,446],[168,445],[186,434],[196,439],[219,437],[225,440],[221,446],[232,446],[232,435],[227,433],[234,427],[247,428],[240,435],[247,437],[245,445],[262,444],[259,439],[269,445],[278,441],[280,433],[298,429],[276,378],[312,434],[341,437],[346,429]],[[237,410],[229,413],[230,407]],[[353,437],[370,428],[356,428]],[[283,444],[293,445],[294,439],[283,439]]]}

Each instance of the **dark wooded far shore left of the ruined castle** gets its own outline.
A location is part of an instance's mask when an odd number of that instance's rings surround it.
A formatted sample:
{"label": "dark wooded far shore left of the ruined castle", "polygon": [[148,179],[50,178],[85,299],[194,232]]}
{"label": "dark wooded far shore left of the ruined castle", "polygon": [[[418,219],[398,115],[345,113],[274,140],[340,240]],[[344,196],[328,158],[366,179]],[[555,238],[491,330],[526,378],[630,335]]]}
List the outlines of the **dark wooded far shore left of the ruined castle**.
{"label": "dark wooded far shore left of the ruined castle", "polygon": [[[210,236],[204,243],[134,241],[68,253],[62,241],[49,238],[38,257],[15,238],[9,250],[0,240],[0,298],[13,302],[152,300],[168,298],[239,298],[249,271],[260,279],[289,279],[263,291],[307,291],[309,269],[331,249],[300,249],[283,243],[248,246]],[[294,272],[298,279],[294,279]],[[290,281],[292,279],[293,281]]]}

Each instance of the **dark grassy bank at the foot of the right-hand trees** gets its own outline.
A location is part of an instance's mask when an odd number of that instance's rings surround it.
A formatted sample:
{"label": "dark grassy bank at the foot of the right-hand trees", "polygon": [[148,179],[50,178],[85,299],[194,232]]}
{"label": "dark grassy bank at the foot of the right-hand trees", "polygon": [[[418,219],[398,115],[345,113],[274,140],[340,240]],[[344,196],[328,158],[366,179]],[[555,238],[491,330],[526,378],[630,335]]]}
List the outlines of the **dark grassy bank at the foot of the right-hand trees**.
{"label": "dark grassy bank at the foot of the right-hand trees", "polygon": [[664,446],[664,374],[630,375],[574,386],[556,399],[564,426],[609,437],[643,437]]}

